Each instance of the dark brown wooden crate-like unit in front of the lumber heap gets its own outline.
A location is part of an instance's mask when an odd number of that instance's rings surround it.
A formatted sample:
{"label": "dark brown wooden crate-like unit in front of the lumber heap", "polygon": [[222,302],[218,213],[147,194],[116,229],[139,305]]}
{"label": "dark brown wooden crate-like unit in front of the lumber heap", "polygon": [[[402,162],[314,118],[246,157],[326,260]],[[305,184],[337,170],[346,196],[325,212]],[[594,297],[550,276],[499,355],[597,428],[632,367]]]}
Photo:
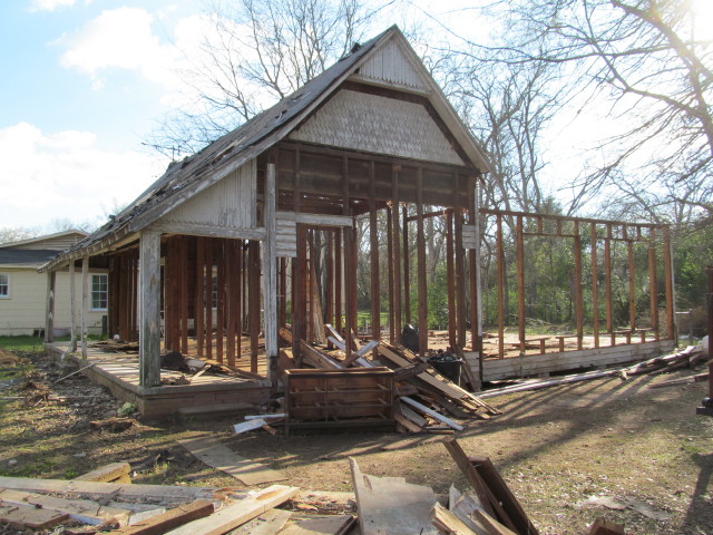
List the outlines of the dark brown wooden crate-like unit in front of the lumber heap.
{"label": "dark brown wooden crate-like unit in front of the lumber heap", "polygon": [[393,427],[394,380],[389,368],[286,370],[290,428]]}

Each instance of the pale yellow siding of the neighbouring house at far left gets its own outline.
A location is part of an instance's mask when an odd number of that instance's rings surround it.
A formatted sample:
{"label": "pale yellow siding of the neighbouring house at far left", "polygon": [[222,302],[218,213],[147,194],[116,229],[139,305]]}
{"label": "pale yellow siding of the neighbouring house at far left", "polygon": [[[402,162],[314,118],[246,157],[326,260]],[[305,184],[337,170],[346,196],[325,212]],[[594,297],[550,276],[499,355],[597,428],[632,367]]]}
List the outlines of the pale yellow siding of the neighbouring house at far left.
{"label": "pale yellow siding of the neighbouring house at far left", "polygon": [[[0,299],[0,335],[32,334],[45,329],[45,304],[47,298],[47,273],[35,270],[0,269],[10,273],[10,299]],[[69,273],[57,273],[55,299],[55,328],[69,330],[71,303],[69,298]],[[77,324],[81,307],[81,272],[75,273]],[[101,317],[106,311],[89,312],[87,325],[90,333],[101,332]],[[68,331],[69,332],[69,331]]]}

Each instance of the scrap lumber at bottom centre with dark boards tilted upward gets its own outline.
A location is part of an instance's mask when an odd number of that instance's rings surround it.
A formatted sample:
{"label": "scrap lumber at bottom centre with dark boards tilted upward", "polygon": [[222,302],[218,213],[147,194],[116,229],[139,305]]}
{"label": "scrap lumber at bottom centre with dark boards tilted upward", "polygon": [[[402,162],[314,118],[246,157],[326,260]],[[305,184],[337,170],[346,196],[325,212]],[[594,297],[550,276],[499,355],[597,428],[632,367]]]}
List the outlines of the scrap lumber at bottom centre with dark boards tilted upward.
{"label": "scrap lumber at bottom centre with dark boards tilted upward", "polygon": [[[452,438],[443,444],[470,485],[465,493],[451,486],[447,506],[430,487],[363,474],[350,459],[361,535],[539,535],[488,457],[467,456]],[[624,529],[597,519],[588,533]]]}

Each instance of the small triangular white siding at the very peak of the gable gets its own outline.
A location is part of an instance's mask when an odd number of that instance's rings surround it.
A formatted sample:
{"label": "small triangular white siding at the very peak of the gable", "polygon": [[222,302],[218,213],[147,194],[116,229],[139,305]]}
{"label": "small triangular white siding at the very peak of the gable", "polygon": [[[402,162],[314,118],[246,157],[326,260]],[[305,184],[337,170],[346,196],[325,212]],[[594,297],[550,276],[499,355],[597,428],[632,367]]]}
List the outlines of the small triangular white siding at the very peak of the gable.
{"label": "small triangular white siding at the very peak of the gable", "polygon": [[418,93],[429,91],[429,84],[423,72],[413,66],[395,39],[381,47],[352,78]]}

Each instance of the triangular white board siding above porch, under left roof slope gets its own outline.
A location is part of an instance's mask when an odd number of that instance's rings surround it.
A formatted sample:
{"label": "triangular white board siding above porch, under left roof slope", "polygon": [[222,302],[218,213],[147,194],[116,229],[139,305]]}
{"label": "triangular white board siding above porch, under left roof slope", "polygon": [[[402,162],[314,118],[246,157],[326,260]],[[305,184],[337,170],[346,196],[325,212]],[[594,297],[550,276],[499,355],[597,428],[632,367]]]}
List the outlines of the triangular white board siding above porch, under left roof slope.
{"label": "triangular white board siding above porch, under left roof slope", "polygon": [[162,223],[185,223],[222,228],[255,228],[257,213],[255,160],[227,175],[180,204]]}

